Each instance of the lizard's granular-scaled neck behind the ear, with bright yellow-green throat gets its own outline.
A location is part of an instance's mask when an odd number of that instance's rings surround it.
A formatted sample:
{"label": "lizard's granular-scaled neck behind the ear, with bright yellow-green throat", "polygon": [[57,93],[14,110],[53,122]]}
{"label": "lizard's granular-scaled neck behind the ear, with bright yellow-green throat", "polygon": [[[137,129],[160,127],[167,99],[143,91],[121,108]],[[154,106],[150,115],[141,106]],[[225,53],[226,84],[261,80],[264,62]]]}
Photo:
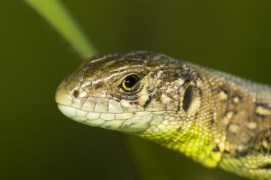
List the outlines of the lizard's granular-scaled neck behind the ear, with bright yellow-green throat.
{"label": "lizard's granular-scaled neck behind the ear, with bright yellow-green throat", "polygon": [[[191,74],[197,72],[197,78],[192,78],[189,85],[189,108],[185,108],[185,92],[180,92],[181,105],[179,111],[168,111],[163,115],[163,128],[157,132],[148,129],[140,134],[142,137],[154,139],[170,149],[177,150],[197,162],[209,167],[217,166],[225,147],[225,128],[216,121],[215,99],[212,85],[203,70],[189,67]],[[221,128],[220,128],[221,127]]]}

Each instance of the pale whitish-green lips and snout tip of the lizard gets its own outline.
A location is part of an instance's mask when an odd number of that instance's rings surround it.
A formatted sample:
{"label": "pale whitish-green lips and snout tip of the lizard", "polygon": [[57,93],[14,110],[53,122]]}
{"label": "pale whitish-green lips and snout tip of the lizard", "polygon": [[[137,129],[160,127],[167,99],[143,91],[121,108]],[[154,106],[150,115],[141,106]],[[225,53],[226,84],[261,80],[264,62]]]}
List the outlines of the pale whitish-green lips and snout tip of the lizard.
{"label": "pale whitish-green lips and snout tip of the lizard", "polygon": [[[89,104],[88,108],[86,108],[88,98],[93,99],[93,97],[88,97],[83,102],[74,100],[63,88],[58,88],[55,98],[58,109],[63,115],[93,127],[103,127],[123,132],[143,132],[150,127],[150,122],[154,116],[153,112],[123,112],[117,106],[104,111],[103,108],[93,107],[97,105],[101,107],[98,100],[96,103]],[[108,100],[109,103],[111,101]],[[116,102],[112,102],[111,105],[115,104]]]}

